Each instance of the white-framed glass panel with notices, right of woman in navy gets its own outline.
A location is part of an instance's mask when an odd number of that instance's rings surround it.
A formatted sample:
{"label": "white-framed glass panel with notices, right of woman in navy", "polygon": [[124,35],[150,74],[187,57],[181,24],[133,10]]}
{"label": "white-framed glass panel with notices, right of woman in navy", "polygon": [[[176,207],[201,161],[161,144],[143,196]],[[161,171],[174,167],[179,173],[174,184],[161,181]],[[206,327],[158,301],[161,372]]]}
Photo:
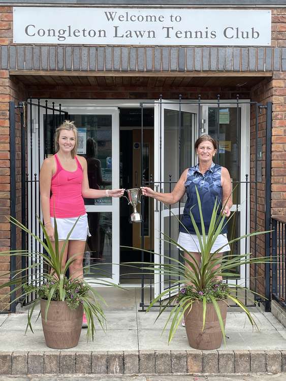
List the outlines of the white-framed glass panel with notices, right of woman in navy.
{"label": "white-framed glass panel with notices, right of woman in navy", "polygon": [[[238,107],[239,106],[239,107]],[[217,141],[218,151],[214,162],[229,170],[233,187],[232,218],[228,225],[228,238],[234,239],[249,232],[249,221],[246,221],[246,205],[249,208],[249,191],[246,194],[246,174],[249,175],[249,105],[220,105],[203,106],[203,117],[206,120],[207,131]],[[219,120],[218,120],[219,118]],[[249,178],[248,178],[249,180]],[[249,186],[248,186],[249,188]],[[248,243],[247,243],[248,244]],[[248,249],[247,249],[248,250]],[[232,253],[244,253],[245,240],[231,245]],[[247,251],[248,252],[248,251]],[[239,273],[239,281],[248,282],[249,266],[240,266],[240,269],[232,269]],[[246,279],[245,279],[246,277]],[[247,283],[246,283],[247,284]]]}

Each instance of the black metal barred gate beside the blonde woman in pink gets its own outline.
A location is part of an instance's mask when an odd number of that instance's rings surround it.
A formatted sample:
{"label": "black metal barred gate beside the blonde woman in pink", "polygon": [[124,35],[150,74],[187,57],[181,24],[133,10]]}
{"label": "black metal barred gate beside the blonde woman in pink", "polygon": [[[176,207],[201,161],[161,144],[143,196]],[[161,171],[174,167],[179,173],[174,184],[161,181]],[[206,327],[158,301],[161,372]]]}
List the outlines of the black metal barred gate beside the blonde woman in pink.
{"label": "black metal barred gate beside the blonde woman in pink", "polygon": [[[21,223],[31,232],[43,239],[40,222],[41,218],[39,173],[43,160],[53,153],[53,148],[47,142],[53,142],[53,134],[57,126],[67,118],[67,113],[61,109],[61,105],[51,104],[45,101],[45,105],[40,104],[40,99],[34,103],[29,101],[20,102],[15,106],[10,102],[10,131],[11,131],[11,215],[16,218],[16,154],[13,149],[16,147],[16,122],[15,109],[20,109],[20,139],[21,139]],[[14,114],[14,115],[13,115]],[[50,139],[48,139],[50,134]],[[15,151],[14,151],[15,152]],[[19,181],[18,181],[19,183]],[[19,186],[18,186],[19,188]],[[19,218],[19,216],[18,216]],[[11,249],[16,249],[16,229],[11,226]],[[19,247],[18,247],[19,248]],[[32,236],[28,236],[21,231],[21,249],[28,250],[31,255],[29,258],[21,257],[21,268],[25,269],[30,265],[34,267],[26,271],[29,281],[37,278],[43,263],[40,260],[39,252],[43,250],[40,244]],[[16,265],[15,257],[11,258],[11,273],[19,270]],[[24,275],[24,274],[22,274]],[[22,305],[28,304],[34,300],[36,295],[20,300]],[[14,295],[15,299],[15,295]],[[15,310],[15,303],[12,305],[12,311]]]}

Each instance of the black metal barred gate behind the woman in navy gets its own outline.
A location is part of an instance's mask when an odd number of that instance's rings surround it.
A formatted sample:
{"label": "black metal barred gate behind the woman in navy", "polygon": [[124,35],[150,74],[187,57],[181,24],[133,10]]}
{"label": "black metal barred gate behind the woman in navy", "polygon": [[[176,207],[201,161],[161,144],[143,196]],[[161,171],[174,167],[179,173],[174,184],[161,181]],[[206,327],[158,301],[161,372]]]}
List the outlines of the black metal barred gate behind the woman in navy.
{"label": "black metal barred gate behind the woman in navy", "polygon": [[[143,115],[143,107],[146,107],[147,105],[150,105],[152,104],[151,102],[144,102],[144,103],[141,103],[141,108],[142,108],[142,115]],[[251,120],[252,120],[252,136],[255,135],[255,138],[253,140],[255,140],[254,144],[253,144],[253,148],[254,148],[254,152],[253,150],[250,152],[251,156],[252,156],[252,176],[251,176],[251,179],[250,179],[250,172],[247,172],[245,173],[245,178],[240,178],[240,162],[236,163],[236,179],[235,181],[232,181],[232,184],[233,184],[233,188],[235,186],[237,186],[237,189],[239,189],[238,191],[236,191],[234,193],[234,200],[233,200],[233,203],[236,205],[236,210],[234,211],[234,213],[239,214],[239,204],[241,204],[241,200],[239,201],[239,198],[242,198],[244,201],[245,201],[245,210],[246,210],[246,213],[245,213],[245,220],[243,221],[243,224],[240,224],[240,227],[242,227],[243,225],[243,228],[241,229],[238,229],[235,234],[239,234],[239,235],[245,235],[245,234],[248,234],[250,233],[250,217],[251,217],[251,232],[254,232],[254,231],[258,231],[258,230],[267,230],[269,231],[270,230],[270,200],[271,200],[271,121],[272,121],[272,103],[271,102],[267,102],[266,105],[262,105],[258,102],[252,102],[252,101],[248,101],[248,100],[240,100],[239,99],[239,96],[236,97],[236,100],[231,100],[231,101],[221,101],[220,100],[220,97],[217,96],[217,99],[216,101],[205,101],[205,100],[202,100],[201,97],[199,96],[198,100],[195,100],[195,101],[185,101],[185,100],[182,100],[181,97],[179,97],[179,100],[178,101],[164,101],[162,100],[162,96],[160,98],[160,100],[158,101],[158,130],[159,130],[159,149],[160,149],[160,161],[158,163],[158,166],[159,166],[159,169],[158,169],[158,176],[157,176],[157,179],[150,179],[150,181],[146,181],[145,178],[144,178],[144,175],[143,175],[143,172],[141,172],[141,179],[142,179],[142,184],[145,184],[146,186],[151,186],[151,187],[154,187],[154,189],[156,190],[159,190],[159,192],[172,192],[172,189],[174,188],[177,180],[178,180],[178,177],[175,175],[172,175],[172,174],[167,174],[166,171],[164,173],[164,171],[162,170],[162,160],[164,160],[164,158],[162,158],[162,155],[161,155],[161,151],[163,150],[163,144],[162,144],[162,141],[164,141],[164,122],[163,120],[164,119],[164,106],[166,105],[170,105],[170,107],[172,108],[172,106],[177,106],[176,107],[176,110],[177,110],[177,128],[178,128],[178,139],[176,141],[176,145],[177,145],[177,152],[178,152],[178,174],[181,174],[182,171],[187,167],[189,166],[186,165],[186,166],[182,166],[182,157],[181,157],[181,150],[182,150],[182,145],[183,145],[183,117],[182,117],[182,114],[183,114],[183,106],[186,106],[186,105],[191,105],[191,106],[194,106],[197,108],[197,118],[196,118],[196,125],[195,125],[195,129],[197,129],[198,131],[198,134],[197,134],[197,137],[199,137],[200,135],[202,135],[203,133],[205,133],[205,129],[204,129],[204,123],[205,123],[205,120],[202,118],[202,108],[204,106],[210,106],[213,108],[213,112],[216,116],[215,118],[215,124],[216,124],[216,134],[213,134],[213,133],[210,133],[210,129],[208,131],[208,133],[217,141],[217,144],[218,144],[218,147],[220,147],[220,124],[223,124],[220,122],[220,111],[221,109],[224,109],[226,107],[234,107],[236,109],[236,130],[237,130],[237,139],[240,135],[240,128],[241,128],[241,117],[240,117],[240,113],[239,113],[239,108],[241,107],[241,105],[248,105],[250,107],[250,110],[251,110]],[[259,130],[261,128],[261,124],[260,124],[260,128],[259,128],[259,123],[261,123],[261,120],[259,120],[259,116],[260,114],[262,114],[264,112],[264,110],[266,111],[266,123],[263,121],[263,125],[264,125],[264,128],[266,130],[266,147],[265,147],[265,153],[264,153],[264,157],[262,157],[262,138],[261,138],[261,135],[259,135]],[[250,116],[250,115],[249,115]],[[190,126],[189,126],[190,127]],[[194,128],[194,126],[193,126]],[[254,130],[254,131],[253,131]],[[141,143],[142,143],[142,147],[141,147],[141,152],[142,152],[142,157],[141,157],[141,162],[143,163],[143,141],[144,141],[144,129],[143,129],[143,120],[142,120],[142,128],[141,128],[141,136],[142,136],[142,139],[141,139]],[[250,137],[249,137],[250,138]],[[249,139],[248,138],[248,139]],[[195,139],[196,140],[196,139]],[[193,146],[194,146],[194,142],[193,141]],[[250,142],[249,142],[250,143]],[[156,144],[156,143],[155,143]],[[166,147],[165,147],[166,148]],[[252,149],[253,149],[252,148]],[[240,158],[241,156],[241,150],[243,150],[243,147],[241,147],[241,145],[239,144],[239,141],[236,142],[236,151],[237,151],[237,157]],[[170,152],[169,152],[170,154]],[[217,155],[215,157],[215,162],[216,163],[220,163],[220,149],[218,148],[218,152],[217,152]],[[253,157],[254,157],[254,160],[253,160]],[[173,158],[173,155],[172,155],[172,158],[171,160],[174,160]],[[262,161],[264,162],[264,166],[262,166]],[[222,164],[222,165],[225,165],[225,164]],[[225,165],[227,166],[227,165]],[[262,176],[263,176],[263,173],[262,173],[262,168],[264,167],[264,176],[265,176],[265,187],[264,187],[264,191],[265,191],[265,224],[264,226],[259,226],[258,225],[258,191],[259,189],[261,189],[261,186],[263,186],[263,183],[262,183]],[[231,172],[231,171],[230,171]],[[254,172],[254,173],[253,173]],[[167,177],[167,178],[166,178]],[[174,181],[175,179],[175,181]],[[243,192],[240,192],[240,189],[241,187],[244,188],[244,193]],[[251,197],[250,197],[250,193],[251,193]],[[251,203],[251,207],[250,207],[250,204]],[[179,209],[179,213],[178,215],[181,215],[182,211],[183,211],[183,207],[181,207],[181,201],[179,202],[178,204],[178,209]],[[165,216],[166,216],[166,208],[164,210],[164,205],[162,203],[158,203],[156,202],[156,206],[155,206],[155,213],[158,213],[159,216],[158,216],[158,220],[159,220],[159,224],[158,224],[158,232],[159,235],[157,237],[159,244],[158,244],[158,258],[159,258],[159,261],[158,261],[158,266],[162,266],[163,264],[163,261],[164,261],[164,256],[170,258],[174,258],[174,250],[173,250],[173,254],[172,254],[172,249],[171,247],[174,247],[173,245],[171,245],[171,243],[167,244],[167,247],[166,247],[166,242],[164,243],[164,240],[166,240],[166,238],[164,238],[163,234],[162,234],[162,215],[163,213],[165,213]],[[142,214],[144,215],[144,203],[142,204]],[[167,233],[168,236],[172,237],[172,232],[174,231],[173,227],[172,227],[172,210],[171,210],[171,206],[169,206],[168,208],[168,211],[167,211],[167,215],[168,215],[168,218],[169,218],[169,221],[168,221],[168,229],[167,231],[165,230],[165,233]],[[236,220],[236,216],[235,216],[235,220]],[[143,220],[145,221],[145,218],[143,218]],[[164,229],[164,228],[163,228]],[[142,224],[142,227],[141,227],[141,236],[142,236],[142,248],[144,248],[144,223]],[[177,232],[178,233],[178,232]],[[174,238],[174,237],[172,237]],[[258,248],[258,237],[255,236],[254,238],[252,238],[252,257],[259,257],[261,256],[261,253],[258,252],[257,248]],[[163,247],[165,245],[165,247]],[[249,238],[245,239],[244,240],[244,252],[249,252],[247,251],[247,247],[249,246]],[[238,248],[238,243],[235,243],[235,245],[233,245],[234,247],[232,247],[232,250],[234,251],[239,251],[239,248]],[[152,248],[150,247],[149,248],[150,251],[152,251]],[[176,254],[176,260],[182,260],[182,257],[179,255],[179,250],[177,249],[177,254]],[[263,256],[265,257],[269,257],[270,256],[270,233],[266,234],[265,235],[265,241],[264,241],[264,253],[263,253]],[[144,260],[144,252],[142,251],[142,262]],[[150,261],[152,261],[152,255],[150,255],[150,258],[149,258]],[[171,260],[167,260],[169,264],[171,264]],[[286,267],[286,266],[285,266]],[[255,292],[258,292],[259,293],[259,288],[258,288],[258,278],[259,278],[259,271],[258,271],[258,265],[254,265],[253,266],[253,269],[251,271],[251,273],[253,273],[253,278],[252,278],[252,281],[249,282],[249,268],[247,268],[247,266],[244,266],[244,274],[241,274],[241,276],[243,276],[244,278],[244,281],[243,283],[241,283],[241,279],[240,277],[236,277],[234,280],[232,279],[232,284],[235,282],[236,285],[238,284],[241,284],[243,287],[249,287],[250,285],[250,288],[252,291],[255,291]],[[146,271],[146,270],[145,270]],[[266,264],[265,265],[265,268],[264,268],[264,271],[265,271],[265,279],[263,279],[263,281],[265,282],[264,283],[264,290],[263,290],[263,294],[265,295],[265,297],[261,297],[261,296],[258,296],[256,294],[251,294],[251,298],[249,299],[249,295],[246,291],[243,291],[242,293],[240,293],[238,295],[236,295],[236,297],[239,297],[241,298],[241,300],[243,300],[244,304],[247,305],[247,306],[257,306],[258,304],[260,304],[261,302],[264,303],[265,305],[265,309],[266,311],[269,311],[270,310],[270,300],[271,300],[271,292],[270,292],[270,264]],[[164,279],[163,279],[164,277]],[[171,279],[171,276],[168,275],[163,275],[163,274],[158,274],[158,283],[159,283],[159,287],[158,287],[158,292],[157,294],[161,294],[161,292],[165,291],[165,290],[168,290],[171,288],[171,286],[173,287],[174,286],[174,280]],[[261,279],[260,279],[261,280]],[[226,279],[226,282],[228,282],[228,279]],[[154,280],[154,284],[156,284],[156,280]],[[179,287],[180,287],[180,280],[178,279],[178,290],[179,290]],[[143,274],[143,271],[142,271],[142,277],[141,277],[141,303],[140,303],[140,311],[144,311],[146,310],[146,308],[148,307],[149,303],[151,302],[151,300],[153,299],[154,297],[154,294],[153,294],[154,290],[153,290],[153,284],[152,284],[152,279],[148,276],[146,276],[145,274]],[[168,294],[166,295],[168,297]],[[169,293],[169,297],[171,297],[171,293]],[[158,302],[157,306],[160,307],[162,304],[162,301]]]}

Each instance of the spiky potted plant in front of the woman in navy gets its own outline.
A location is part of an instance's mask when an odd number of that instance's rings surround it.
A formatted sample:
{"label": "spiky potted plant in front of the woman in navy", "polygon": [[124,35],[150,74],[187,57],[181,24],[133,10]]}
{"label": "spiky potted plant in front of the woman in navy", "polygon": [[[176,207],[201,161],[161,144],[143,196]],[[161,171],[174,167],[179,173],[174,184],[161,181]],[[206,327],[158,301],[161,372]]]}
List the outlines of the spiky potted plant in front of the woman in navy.
{"label": "spiky potted plant in front of the woman in navy", "polygon": [[[223,281],[218,281],[218,277],[233,277],[236,274],[231,272],[231,269],[237,268],[241,265],[270,262],[270,258],[251,258],[250,253],[238,255],[234,252],[231,252],[230,255],[225,255],[222,258],[218,258],[217,253],[221,250],[221,247],[211,253],[210,251],[213,243],[218,235],[223,231],[223,228],[228,221],[226,220],[225,215],[221,215],[221,218],[217,218],[219,205],[215,203],[212,210],[210,227],[208,233],[206,234],[198,190],[197,200],[201,217],[202,232],[199,231],[198,225],[193,217],[192,210],[190,211],[190,218],[192,219],[192,223],[199,240],[201,264],[199,265],[192,253],[189,252],[189,256],[193,259],[195,264],[185,258],[180,261],[164,256],[165,259],[168,260],[168,263],[166,263],[167,261],[164,263],[162,260],[160,265],[149,263],[148,267],[143,267],[146,270],[152,270],[162,274],[163,276],[170,276],[172,279],[172,287],[163,291],[160,295],[153,299],[147,308],[147,311],[149,311],[155,303],[161,300],[160,312],[156,320],[164,311],[166,311],[167,308],[170,310],[167,322],[163,329],[163,331],[165,331],[170,324],[168,336],[169,343],[174,337],[180,322],[184,319],[189,345],[199,350],[213,350],[220,347],[223,339],[225,341],[225,324],[228,300],[232,300],[239,307],[241,307],[246,313],[252,327],[257,328],[250,311],[237,297],[237,288],[243,290],[246,288],[237,284],[227,284]],[[179,221],[179,223],[181,222]],[[240,241],[246,237],[264,233],[268,232],[246,234],[241,237],[231,239],[229,244]],[[187,252],[187,250],[178,245],[175,240],[168,237],[164,233],[162,233],[162,235],[164,236],[162,239],[165,242],[171,242],[171,244],[179,247],[182,251]],[[148,250],[144,251],[150,252]],[[180,256],[183,257],[181,251]],[[133,265],[137,264],[138,263],[135,262],[133,263]],[[186,264],[189,265],[192,271],[189,270]],[[129,265],[132,264],[129,263]],[[143,266],[144,265],[146,266],[146,263],[143,264]],[[178,279],[180,279],[179,284]],[[257,294],[255,292],[252,293]],[[164,300],[164,298],[168,297],[168,295],[171,295],[171,297]]]}

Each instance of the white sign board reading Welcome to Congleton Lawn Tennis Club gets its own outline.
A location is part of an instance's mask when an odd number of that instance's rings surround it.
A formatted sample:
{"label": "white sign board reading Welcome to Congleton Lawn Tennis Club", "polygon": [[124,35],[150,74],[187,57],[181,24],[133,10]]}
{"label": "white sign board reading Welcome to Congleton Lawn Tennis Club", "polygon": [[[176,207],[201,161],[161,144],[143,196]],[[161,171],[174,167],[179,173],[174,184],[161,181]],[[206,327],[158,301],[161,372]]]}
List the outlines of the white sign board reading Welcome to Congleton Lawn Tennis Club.
{"label": "white sign board reading Welcome to Congleton Lawn Tennis Club", "polygon": [[14,7],[16,44],[271,45],[271,11]]}

